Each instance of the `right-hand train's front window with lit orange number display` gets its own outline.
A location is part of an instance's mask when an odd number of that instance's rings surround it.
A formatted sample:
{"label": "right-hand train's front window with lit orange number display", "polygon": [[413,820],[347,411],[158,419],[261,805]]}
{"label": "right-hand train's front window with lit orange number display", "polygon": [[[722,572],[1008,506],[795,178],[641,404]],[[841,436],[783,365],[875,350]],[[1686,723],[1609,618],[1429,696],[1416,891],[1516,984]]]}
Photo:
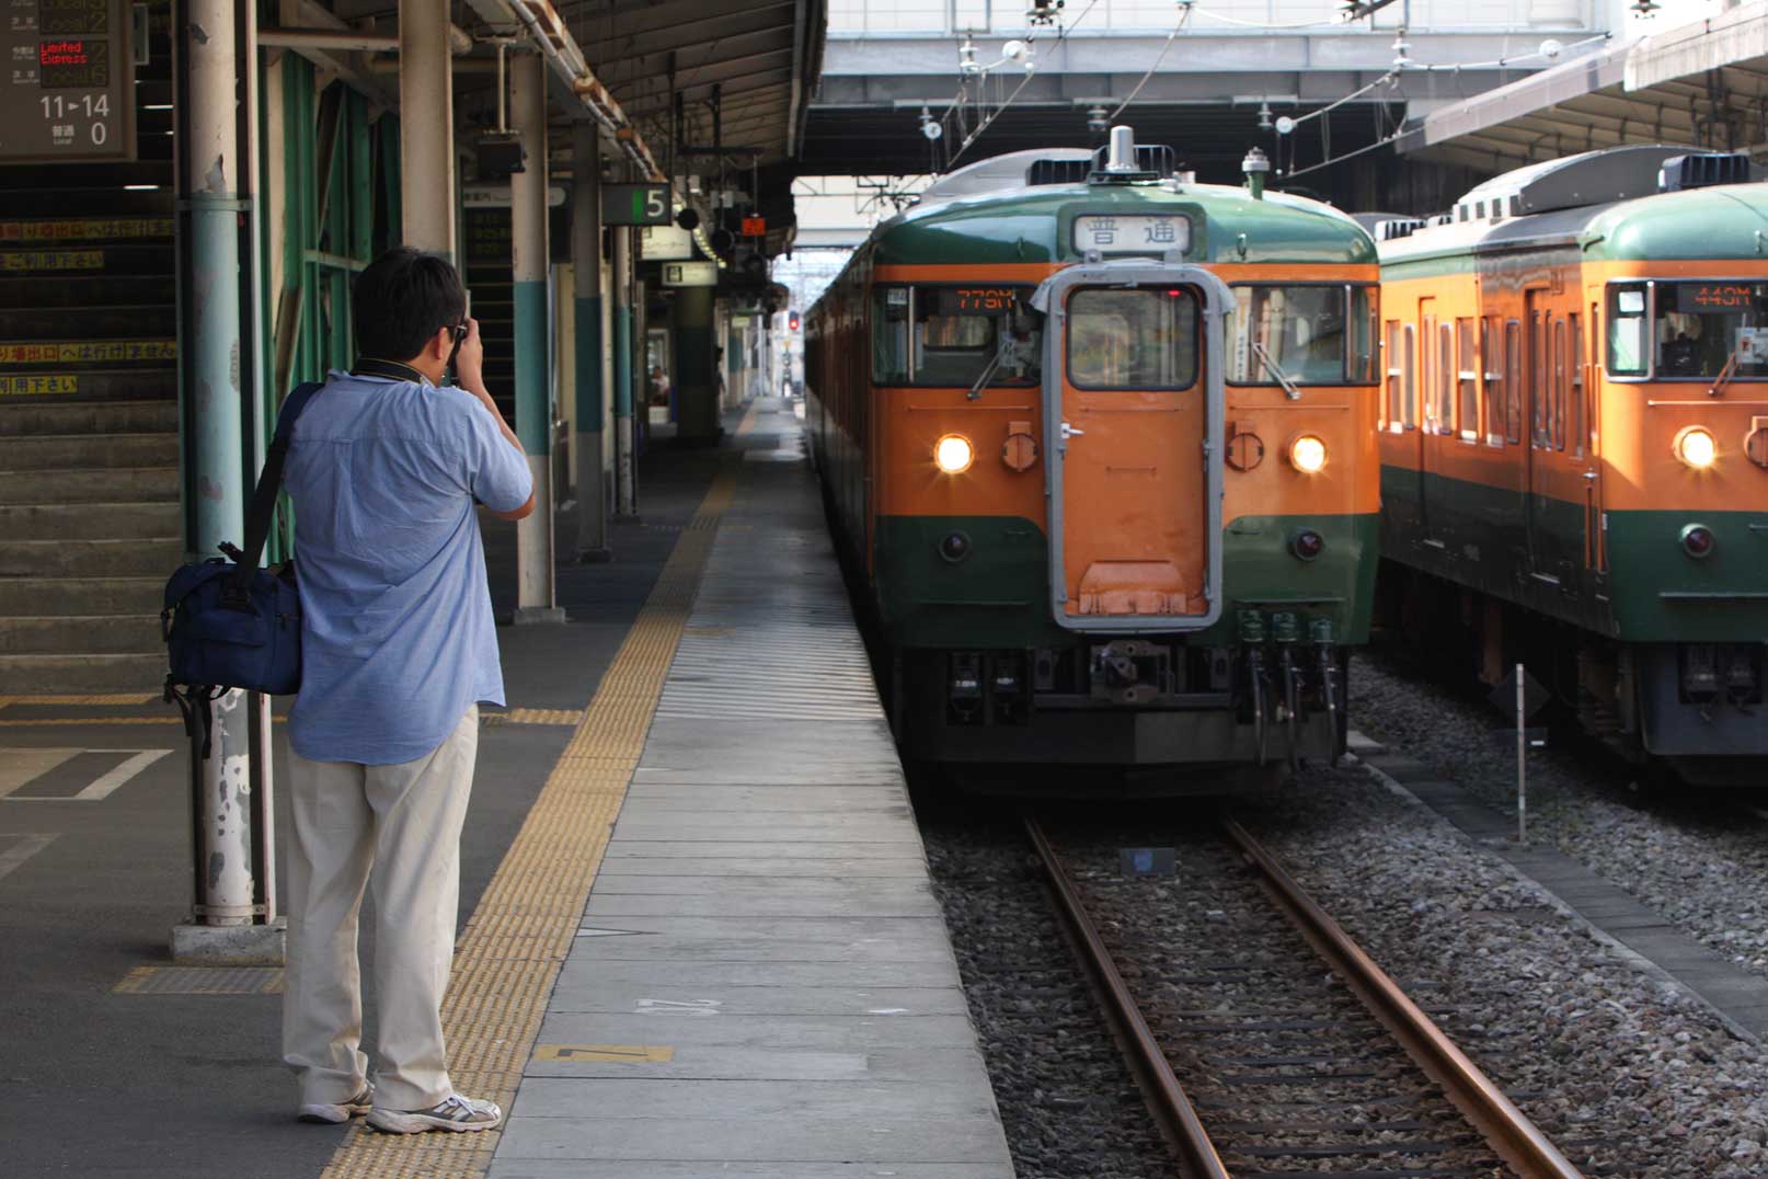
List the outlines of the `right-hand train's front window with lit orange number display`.
{"label": "right-hand train's front window with lit orange number display", "polygon": [[1651,318],[1660,380],[1768,377],[1768,283],[1657,283]]}

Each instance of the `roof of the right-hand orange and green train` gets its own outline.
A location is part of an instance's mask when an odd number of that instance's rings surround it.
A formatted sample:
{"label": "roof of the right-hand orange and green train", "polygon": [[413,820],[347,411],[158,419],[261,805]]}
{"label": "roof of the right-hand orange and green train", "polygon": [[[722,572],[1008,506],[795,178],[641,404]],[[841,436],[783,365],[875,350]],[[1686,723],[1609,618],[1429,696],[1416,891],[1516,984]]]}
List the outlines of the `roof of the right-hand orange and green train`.
{"label": "roof of the right-hand orange and green train", "polygon": [[[1383,265],[1459,270],[1478,255],[1577,247],[1584,260],[1768,258],[1768,184],[1658,191],[1660,170],[1711,161],[1685,147],[1628,147],[1529,164],[1471,189],[1455,212],[1377,224]],[[1747,164],[1729,170],[1750,175]],[[1674,175],[1669,177],[1674,184]]]}

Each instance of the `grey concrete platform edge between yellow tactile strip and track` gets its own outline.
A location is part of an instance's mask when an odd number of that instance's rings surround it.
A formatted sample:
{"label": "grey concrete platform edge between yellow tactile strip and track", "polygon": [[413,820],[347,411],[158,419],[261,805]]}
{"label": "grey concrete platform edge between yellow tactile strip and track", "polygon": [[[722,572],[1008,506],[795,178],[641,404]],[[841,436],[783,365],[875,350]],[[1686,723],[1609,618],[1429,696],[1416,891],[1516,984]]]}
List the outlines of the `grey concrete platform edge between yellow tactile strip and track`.
{"label": "grey concrete platform edge between yellow tactile strip and track", "polygon": [[493,1179],[1013,1174],[796,421],[778,433],[741,467]]}

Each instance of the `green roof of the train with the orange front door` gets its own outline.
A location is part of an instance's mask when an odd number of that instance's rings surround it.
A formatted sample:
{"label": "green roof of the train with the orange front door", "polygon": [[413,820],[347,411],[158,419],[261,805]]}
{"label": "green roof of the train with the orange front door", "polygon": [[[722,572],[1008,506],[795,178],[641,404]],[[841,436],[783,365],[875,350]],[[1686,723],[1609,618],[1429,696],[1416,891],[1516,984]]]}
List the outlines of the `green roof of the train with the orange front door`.
{"label": "green roof of the train with the orange front door", "polygon": [[[956,173],[948,177],[955,179]],[[942,193],[935,186],[928,196],[873,230],[873,262],[1078,262],[1064,235],[1071,217],[1112,212],[1192,212],[1188,262],[1376,262],[1363,226],[1331,205],[1285,193],[1268,191],[1254,200],[1246,189],[1222,184],[1080,180],[981,191],[955,186]]]}

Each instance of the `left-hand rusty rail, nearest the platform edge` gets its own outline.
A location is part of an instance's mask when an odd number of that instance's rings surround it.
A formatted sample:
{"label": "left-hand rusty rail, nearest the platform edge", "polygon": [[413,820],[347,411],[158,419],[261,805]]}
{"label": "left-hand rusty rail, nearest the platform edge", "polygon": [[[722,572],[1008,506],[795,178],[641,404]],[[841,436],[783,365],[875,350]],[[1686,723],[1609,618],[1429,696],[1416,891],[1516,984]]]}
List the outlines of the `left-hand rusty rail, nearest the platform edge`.
{"label": "left-hand rusty rail, nearest the platform edge", "polygon": [[1068,868],[1063,866],[1061,856],[1055,854],[1038,820],[1031,815],[1024,818],[1025,834],[1031,836],[1031,845],[1038,848],[1043,870],[1050,877],[1050,891],[1055,894],[1057,910],[1068,923],[1070,933],[1073,933],[1082,963],[1105,997],[1105,1009],[1117,1027],[1130,1068],[1135,1071],[1137,1082],[1147,1096],[1149,1108],[1160,1119],[1162,1130],[1177,1149],[1186,1179],[1231,1179],[1227,1167],[1222,1165],[1222,1158],[1216,1154],[1215,1144],[1209,1142],[1209,1133],[1197,1119],[1197,1110],[1192,1108],[1190,1098],[1179,1087],[1179,1078],[1172,1075],[1172,1066],[1149,1031],[1147,1020],[1142,1018],[1142,1011],[1135,1006],[1135,997],[1130,995],[1130,988],[1117,972],[1117,965],[1100,939],[1098,928],[1087,917],[1087,910],[1080,903],[1080,894],[1075,891],[1075,882],[1068,877]]}

